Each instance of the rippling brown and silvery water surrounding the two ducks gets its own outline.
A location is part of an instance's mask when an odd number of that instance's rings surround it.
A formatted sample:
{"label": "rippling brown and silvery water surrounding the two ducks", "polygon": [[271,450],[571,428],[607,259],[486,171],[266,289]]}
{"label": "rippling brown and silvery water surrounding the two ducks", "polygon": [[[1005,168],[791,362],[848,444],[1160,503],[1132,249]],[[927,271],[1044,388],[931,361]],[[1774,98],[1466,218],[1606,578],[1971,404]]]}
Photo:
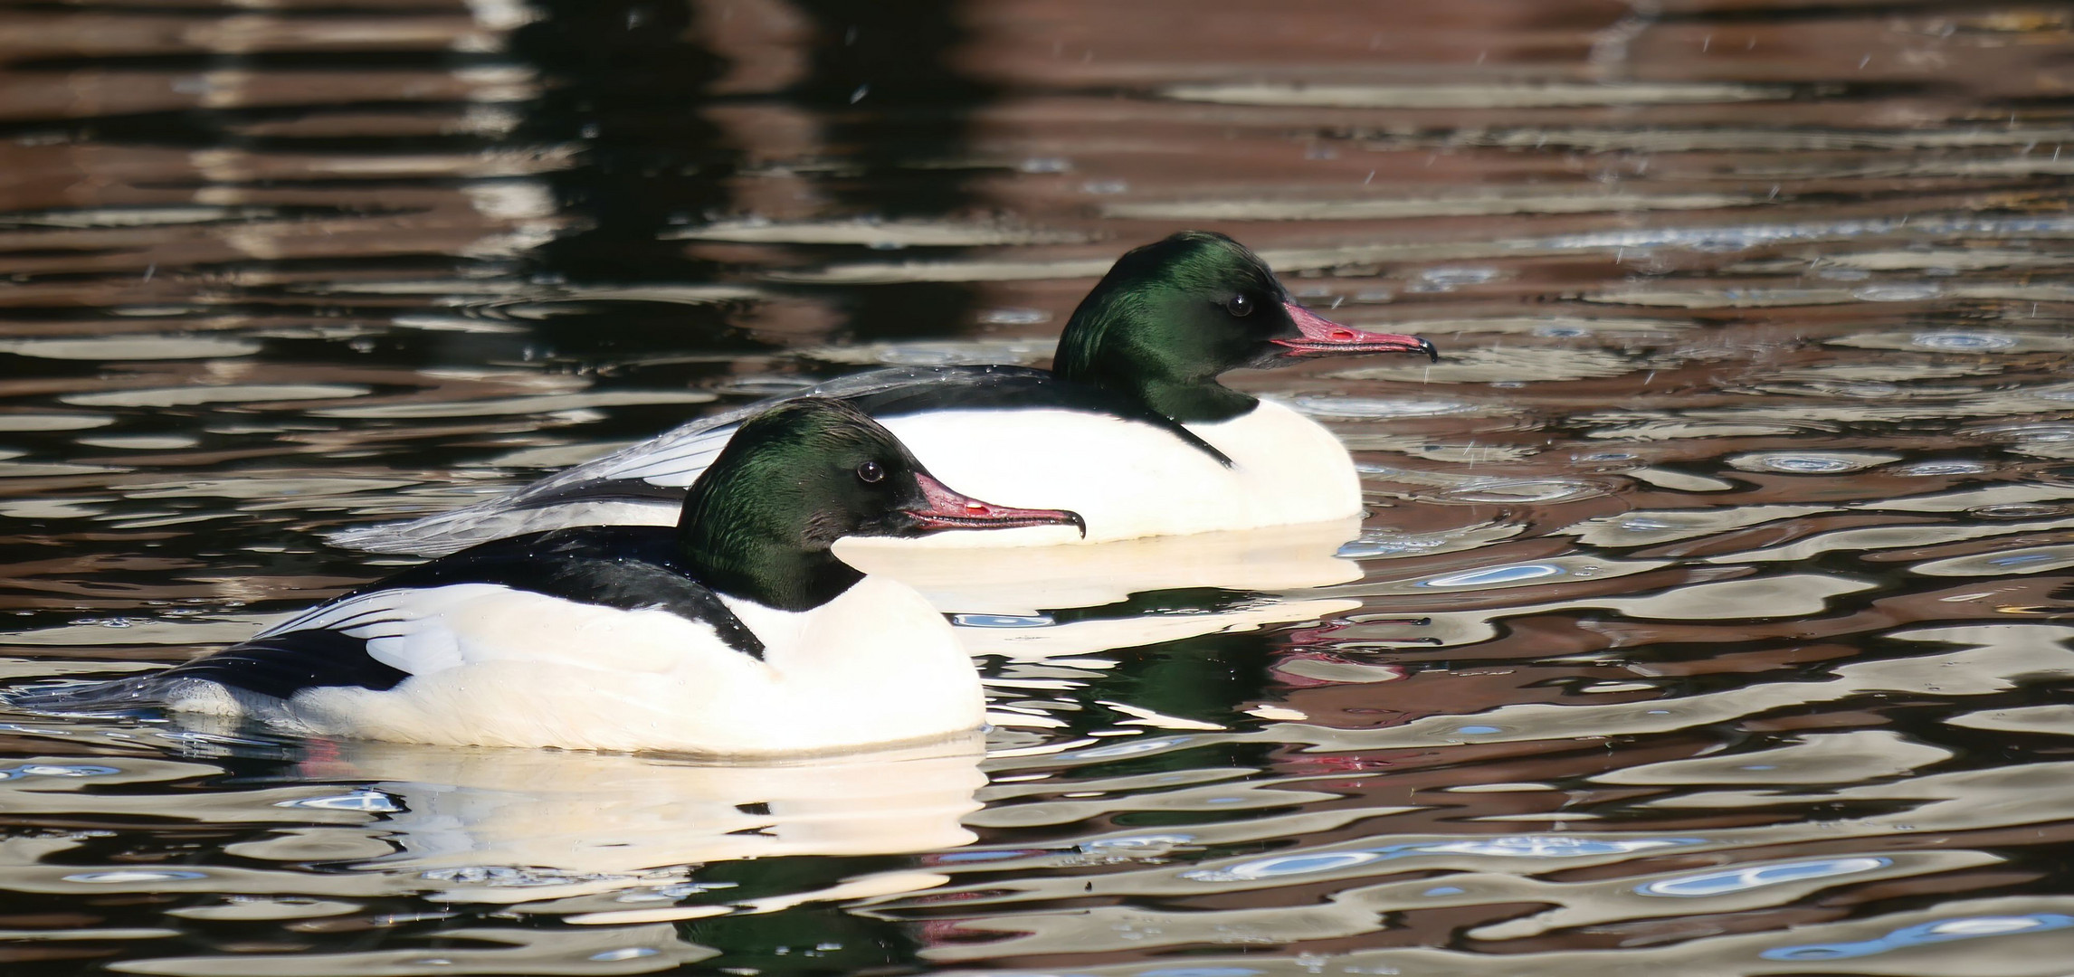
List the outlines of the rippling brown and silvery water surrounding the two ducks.
{"label": "rippling brown and silvery water surrounding the two ducks", "polygon": [[2066,971],[2059,6],[6,17],[4,678],[807,378],[1041,361],[1180,226],[1448,353],[1236,380],[1361,527],[910,568],[985,743],[4,714],[8,975]]}

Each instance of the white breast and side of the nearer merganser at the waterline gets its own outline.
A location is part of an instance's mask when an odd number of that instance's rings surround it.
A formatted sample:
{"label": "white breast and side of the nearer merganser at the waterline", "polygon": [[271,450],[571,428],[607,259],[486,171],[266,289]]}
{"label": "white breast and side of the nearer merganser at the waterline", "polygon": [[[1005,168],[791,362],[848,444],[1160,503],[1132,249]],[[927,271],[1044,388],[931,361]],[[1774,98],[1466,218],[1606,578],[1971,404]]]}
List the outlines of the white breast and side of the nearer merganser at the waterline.
{"label": "white breast and side of the nearer merganser at the waterline", "polygon": [[311,618],[380,610],[348,626],[411,678],[388,691],[324,687],[241,705],[332,736],[709,755],[921,741],[975,730],[985,716],[950,624],[879,577],[807,614],[736,608],[765,641],[761,662],[709,624],[664,610],[483,583],[382,593],[404,597],[373,608],[380,593],[365,595]]}

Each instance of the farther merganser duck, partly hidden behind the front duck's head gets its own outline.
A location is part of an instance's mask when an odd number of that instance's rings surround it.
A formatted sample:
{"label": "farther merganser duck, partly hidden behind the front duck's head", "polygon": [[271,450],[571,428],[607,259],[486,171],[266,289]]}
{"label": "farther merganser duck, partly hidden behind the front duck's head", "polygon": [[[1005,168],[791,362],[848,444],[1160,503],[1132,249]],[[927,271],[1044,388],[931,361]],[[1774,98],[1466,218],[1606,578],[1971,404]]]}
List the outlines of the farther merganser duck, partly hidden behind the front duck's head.
{"label": "farther merganser duck, partly hidden behind the front duck's head", "polygon": [[[1265,261],[1215,232],[1132,249],[1081,301],[1049,371],[892,367],[801,396],[848,400],[954,485],[1002,504],[1081,512],[1087,533],[948,533],[952,546],[1049,546],[1348,519],[1361,483],[1317,421],[1217,382],[1305,357],[1421,353],[1296,305]],[[510,496],[413,523],[336,533],[371,552],[442,554],[560,525],[668,523],[753,404],[705,417]]]}

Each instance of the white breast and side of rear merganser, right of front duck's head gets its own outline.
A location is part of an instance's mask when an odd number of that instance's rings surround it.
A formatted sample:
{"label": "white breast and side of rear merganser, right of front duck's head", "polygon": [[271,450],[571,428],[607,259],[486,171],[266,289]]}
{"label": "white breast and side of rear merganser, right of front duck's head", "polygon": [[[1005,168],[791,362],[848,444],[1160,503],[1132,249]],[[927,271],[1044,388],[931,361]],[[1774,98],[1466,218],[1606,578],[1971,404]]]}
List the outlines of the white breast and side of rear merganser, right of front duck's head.
{"label": "white breast and side of rear merganser, right of front duck's head", "polygon": [[[1004,506],[1081,512],[1087,541],[1323,523],[1361,512],[1361,483],[1346,448],[1315,421],[1265,400],[1230,421],[1188,425],[1230,467],[1159,427],[1076,411],[931,411],[886,419],[886,427],[958,492]],[[1078,539],[1070,527],[1029,527],[940,533],[921,543]]]}

